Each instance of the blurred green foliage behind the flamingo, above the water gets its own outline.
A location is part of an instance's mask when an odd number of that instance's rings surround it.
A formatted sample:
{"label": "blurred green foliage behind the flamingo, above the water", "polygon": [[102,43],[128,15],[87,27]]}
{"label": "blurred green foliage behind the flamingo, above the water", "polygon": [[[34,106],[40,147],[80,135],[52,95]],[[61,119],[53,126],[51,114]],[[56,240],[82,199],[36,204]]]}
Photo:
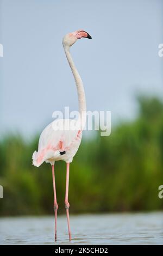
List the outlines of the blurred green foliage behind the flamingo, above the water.
{"label": "blurred green foliage behind the flamingo, above the water", "polygon": [[[138,98],[139,114],[121,122],[109,137],[83,139],[70,164],[70,212],[163,209],[158,187],[163,183],[163,103]],[[4,199],[0,215],[53,214],[53,184],[49,164],[32,166],[39,137],[27,143],[21,136],[0,142],[0,184]],[[65,162],[55,163],[59,211],[65,212]]]}

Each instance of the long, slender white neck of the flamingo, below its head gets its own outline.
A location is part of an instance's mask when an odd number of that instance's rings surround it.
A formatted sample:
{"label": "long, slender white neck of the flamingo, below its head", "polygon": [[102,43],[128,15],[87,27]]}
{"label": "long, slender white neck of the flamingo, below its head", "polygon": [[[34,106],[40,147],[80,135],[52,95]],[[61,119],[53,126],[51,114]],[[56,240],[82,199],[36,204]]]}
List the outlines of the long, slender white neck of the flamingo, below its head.
{"label": "long, slender white neck of the flamingo, below its head", "polygon": [[70,68],[72,70],[72,74],[74,76],[74,81],[76,82],[77,92],[78,92],[78,101],[79,101],[79,114],[80,114],[80,118],[82,118],[83,120],[86,113],[86,100],[85,100],[85,92],[84,92],[82,78],[80,77],[78,70],[74,65],[73,59],[70,54],[70,47],[64,46],[64,50],[65,50]]}

